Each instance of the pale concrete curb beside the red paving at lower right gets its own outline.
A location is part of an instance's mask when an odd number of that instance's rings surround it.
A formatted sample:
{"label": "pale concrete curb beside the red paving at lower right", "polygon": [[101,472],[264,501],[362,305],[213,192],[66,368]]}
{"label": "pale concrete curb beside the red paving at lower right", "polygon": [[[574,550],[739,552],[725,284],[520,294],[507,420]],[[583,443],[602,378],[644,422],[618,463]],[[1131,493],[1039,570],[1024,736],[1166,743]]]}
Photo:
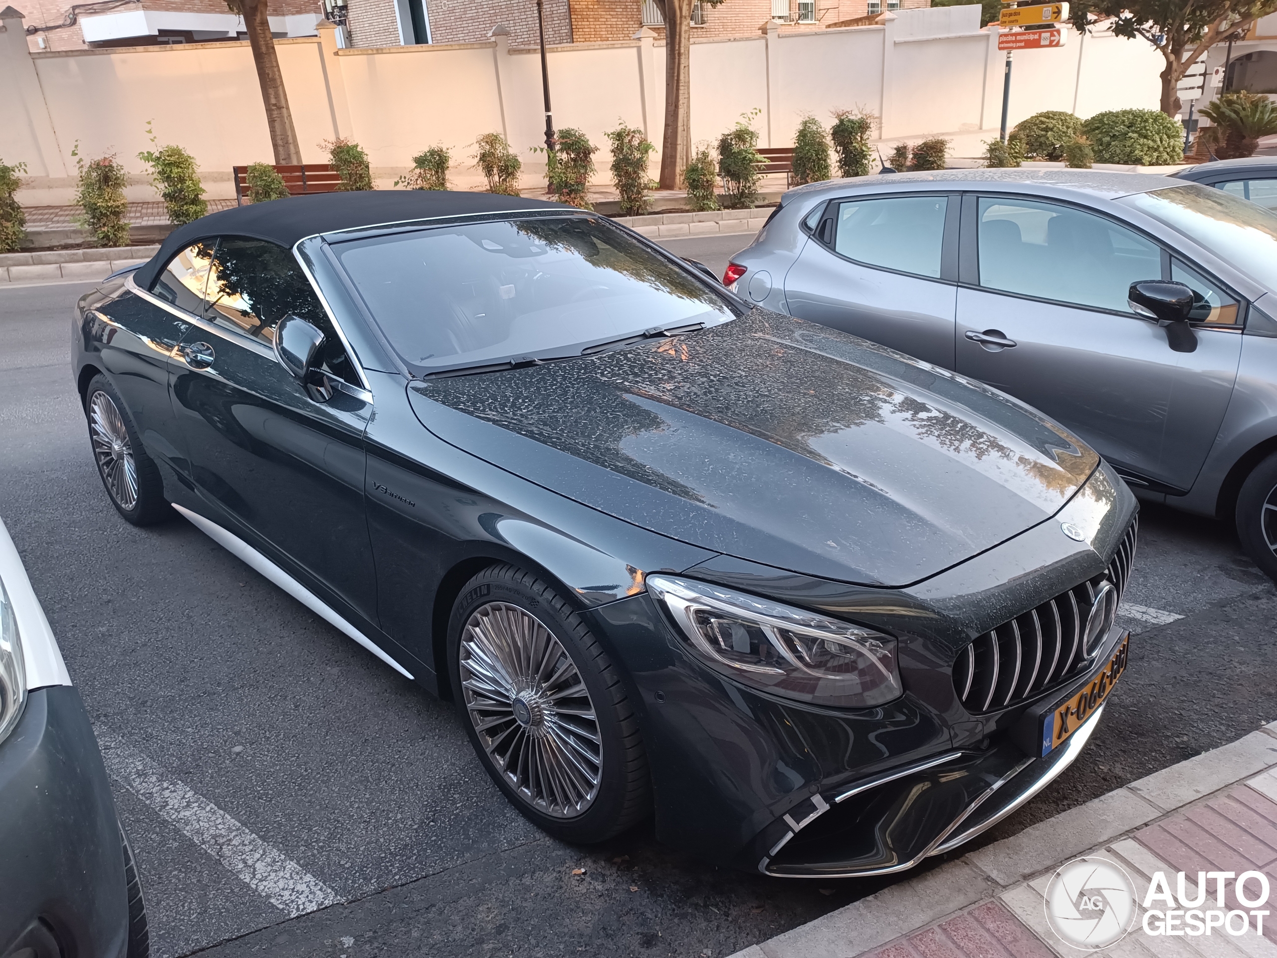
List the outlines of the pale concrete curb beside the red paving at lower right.
{"label": "pale concrete curb beside the red paving at lower right", "polygon": [[[1277,796],[1277,722],[1079,805],[1016,835],[900,881],[732,958],[850,958],[902,939],[1137,829],[1268,772]],[[1254,787],[1254,786],[1253,786]]]}

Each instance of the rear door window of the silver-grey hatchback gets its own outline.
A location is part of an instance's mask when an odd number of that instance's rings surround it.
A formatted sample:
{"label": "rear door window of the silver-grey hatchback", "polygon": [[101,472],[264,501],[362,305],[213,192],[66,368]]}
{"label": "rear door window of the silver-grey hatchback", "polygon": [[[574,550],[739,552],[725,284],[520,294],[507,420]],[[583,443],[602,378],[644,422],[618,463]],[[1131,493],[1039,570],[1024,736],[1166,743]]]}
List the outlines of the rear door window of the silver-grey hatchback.
{"label": "rear door window of the silver-grey hatchback", "polygon": [[842,203],[834,250],[866,266],[940,277],[948,197],[890,197]]}

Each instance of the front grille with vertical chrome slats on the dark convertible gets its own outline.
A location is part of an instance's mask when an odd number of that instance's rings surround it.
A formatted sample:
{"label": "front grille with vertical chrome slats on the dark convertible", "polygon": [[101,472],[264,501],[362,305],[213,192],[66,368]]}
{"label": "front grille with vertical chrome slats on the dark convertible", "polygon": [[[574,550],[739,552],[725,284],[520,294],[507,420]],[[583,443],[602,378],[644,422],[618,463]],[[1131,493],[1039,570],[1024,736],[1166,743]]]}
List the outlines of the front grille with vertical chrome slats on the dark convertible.
{"label": "front grille with vertical chrome slats on the dark convertible", "polygon": [[967,711],[1010,708],[1088,668],[1082,650],[1087,614],[1106,579],[1119,600],[1126,591],[1137,526],[1130,524],[1102,575],[985,632],[958,653],[954,690]]}

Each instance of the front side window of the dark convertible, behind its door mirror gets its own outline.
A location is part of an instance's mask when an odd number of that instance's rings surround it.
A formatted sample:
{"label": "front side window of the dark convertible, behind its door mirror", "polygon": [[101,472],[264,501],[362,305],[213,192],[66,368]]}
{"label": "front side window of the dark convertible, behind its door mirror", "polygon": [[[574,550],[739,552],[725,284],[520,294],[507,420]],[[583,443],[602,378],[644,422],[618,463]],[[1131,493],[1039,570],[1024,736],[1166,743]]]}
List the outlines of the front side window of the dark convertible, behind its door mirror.
{"label": "front side window of the dark convertible, behind its door mirror", "polygon": [[323,307],[292,253],[275,243],[222,236],[208,276],[206,317],[266,344],[275,327],[296,313],[321,328]]}

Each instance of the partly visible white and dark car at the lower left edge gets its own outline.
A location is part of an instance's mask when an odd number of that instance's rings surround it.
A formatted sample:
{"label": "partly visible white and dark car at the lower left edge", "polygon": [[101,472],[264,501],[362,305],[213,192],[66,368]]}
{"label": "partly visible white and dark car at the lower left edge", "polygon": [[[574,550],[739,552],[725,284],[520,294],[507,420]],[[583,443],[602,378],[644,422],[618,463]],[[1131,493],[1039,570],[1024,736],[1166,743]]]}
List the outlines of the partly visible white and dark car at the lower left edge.
{"label": "partly visible white and dark car at the lower left edge", "polygon": [[0,955],[146,958],[133,853],[79,692],[0,521]]}

